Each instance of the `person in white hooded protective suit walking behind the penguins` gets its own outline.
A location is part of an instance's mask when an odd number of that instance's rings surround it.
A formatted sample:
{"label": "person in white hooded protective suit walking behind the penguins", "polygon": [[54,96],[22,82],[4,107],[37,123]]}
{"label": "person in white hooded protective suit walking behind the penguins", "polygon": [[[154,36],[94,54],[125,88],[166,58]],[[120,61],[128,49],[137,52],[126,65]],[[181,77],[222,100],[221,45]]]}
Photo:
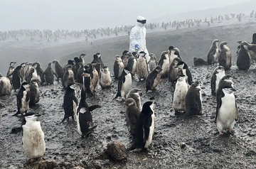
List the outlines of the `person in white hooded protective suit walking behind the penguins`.
{"label": "person in white hooded protective suit walking behind the penguins", "polygon": [[129,36],[129,52],[144,51],[146,53],[146,62],[149,62],[149,52],[146,49],[146,18],[137,16],[137,23],[132,28]]}

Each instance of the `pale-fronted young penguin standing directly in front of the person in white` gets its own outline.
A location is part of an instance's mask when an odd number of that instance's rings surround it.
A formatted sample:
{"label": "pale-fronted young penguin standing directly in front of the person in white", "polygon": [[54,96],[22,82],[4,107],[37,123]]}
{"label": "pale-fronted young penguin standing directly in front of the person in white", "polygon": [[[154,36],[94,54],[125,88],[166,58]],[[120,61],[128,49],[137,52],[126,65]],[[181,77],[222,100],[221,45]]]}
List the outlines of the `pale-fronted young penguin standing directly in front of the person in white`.
{"label": "pale-fronted young penguin standing directly in front of the person in white", "polygon": [[136,73],[139,81],[142,79],[146,80],[147,75],[149,75],[149,67],[146,63],[146,53],[143,51],[139,53],[139,58],[137,59]]}

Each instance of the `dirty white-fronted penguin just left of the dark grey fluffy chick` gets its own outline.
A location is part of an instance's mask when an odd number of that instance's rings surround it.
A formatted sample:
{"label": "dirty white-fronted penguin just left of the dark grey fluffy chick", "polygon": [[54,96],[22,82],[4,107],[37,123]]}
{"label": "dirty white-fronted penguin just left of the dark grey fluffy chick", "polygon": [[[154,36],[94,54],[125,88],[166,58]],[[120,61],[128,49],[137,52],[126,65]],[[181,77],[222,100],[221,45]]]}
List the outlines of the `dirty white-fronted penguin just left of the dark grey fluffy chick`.
{"label": "dirty white-fronted penguin just left of the dark grey fluffy chick", "polygon": [[188,92],[188,84],[186,82],[186,76],[180,75],[176,82],[174,90],[173,107],[175,112],[183,111],[186,112],[186,94]]}

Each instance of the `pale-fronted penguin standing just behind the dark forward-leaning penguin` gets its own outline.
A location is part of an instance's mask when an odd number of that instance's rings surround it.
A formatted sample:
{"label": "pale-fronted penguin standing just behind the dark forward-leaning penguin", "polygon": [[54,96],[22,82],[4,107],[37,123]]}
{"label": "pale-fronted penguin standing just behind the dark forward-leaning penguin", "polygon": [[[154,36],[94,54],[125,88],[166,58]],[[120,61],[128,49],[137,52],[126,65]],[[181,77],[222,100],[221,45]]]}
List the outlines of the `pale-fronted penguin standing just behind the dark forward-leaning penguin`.
{"label": "pale-fronted penguin standing just behind the dark forward-leaning penguin", "polygon": [[159,66],[161,66],[161,77],[167,77],[170,66],[170,59],[167,51],[161,53],[161,58],[159,60]]}

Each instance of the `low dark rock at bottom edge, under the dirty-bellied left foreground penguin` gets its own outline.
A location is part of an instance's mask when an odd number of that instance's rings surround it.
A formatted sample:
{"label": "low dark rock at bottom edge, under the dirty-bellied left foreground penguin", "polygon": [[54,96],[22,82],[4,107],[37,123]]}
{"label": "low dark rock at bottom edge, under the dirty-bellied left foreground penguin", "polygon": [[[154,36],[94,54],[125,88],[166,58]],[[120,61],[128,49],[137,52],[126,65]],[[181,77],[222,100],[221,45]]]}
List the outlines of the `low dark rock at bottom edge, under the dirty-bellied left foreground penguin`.
{"label": "low dark rock at bottom edge, under the dirty-bellied left foreground penguin", "polygon": [[32,163],[28,160],[23,167],[25,169],[53,169],[57,167],[57,163],[55,160],[38,160]]}

